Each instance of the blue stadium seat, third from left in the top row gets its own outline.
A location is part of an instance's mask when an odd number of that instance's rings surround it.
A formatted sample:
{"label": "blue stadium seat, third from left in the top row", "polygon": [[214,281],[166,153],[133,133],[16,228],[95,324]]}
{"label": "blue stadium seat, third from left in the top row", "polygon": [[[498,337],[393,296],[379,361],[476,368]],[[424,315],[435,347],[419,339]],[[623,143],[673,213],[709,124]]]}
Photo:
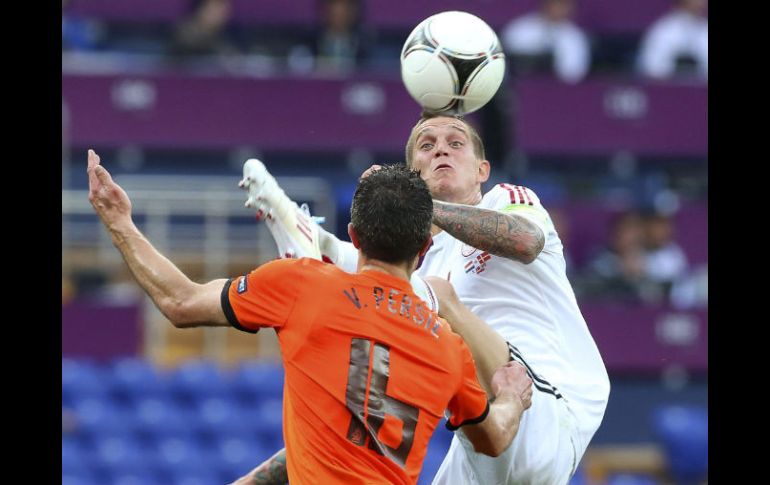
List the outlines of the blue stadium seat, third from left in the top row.
{"label": "blue stadium seat, third from left in the top row", "polygon": [[210,361],[182,364],[172,372],[169,385],[174,397],[186,402],[224,397],[229,391],[225,373]]}

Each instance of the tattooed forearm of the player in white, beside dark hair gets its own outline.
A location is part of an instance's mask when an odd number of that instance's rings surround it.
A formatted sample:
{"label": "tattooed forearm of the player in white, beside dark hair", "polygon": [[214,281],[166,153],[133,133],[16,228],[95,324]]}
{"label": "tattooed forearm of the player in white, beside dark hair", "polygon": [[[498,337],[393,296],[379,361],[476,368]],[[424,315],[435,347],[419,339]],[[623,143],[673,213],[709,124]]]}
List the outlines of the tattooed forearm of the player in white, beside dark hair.
{"label": "tattooed forearm of the player in white, beside dark hair", "polygon": [[523,217],[469,205],[434,200],[433,223],[466,244],[522,263],[534,261],[545,244],[542,231]]}

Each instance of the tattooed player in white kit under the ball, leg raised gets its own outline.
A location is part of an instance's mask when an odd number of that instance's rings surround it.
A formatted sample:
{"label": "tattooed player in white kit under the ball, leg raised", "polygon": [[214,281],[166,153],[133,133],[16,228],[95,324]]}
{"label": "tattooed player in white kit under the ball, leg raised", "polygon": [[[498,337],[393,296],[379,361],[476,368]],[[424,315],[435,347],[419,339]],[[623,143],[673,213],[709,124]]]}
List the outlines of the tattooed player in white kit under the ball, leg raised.
{"label": "tattooed player in white kit under the ball, leg raised", "polygon": [[[451,319],[464,322],[453,330],[471,348],[482,384],[489,382],[489,369],[517,360],[535,388],[532,407],[501,456],[475,453],[456,433],[433,484],[566,484],[601,424],[610,385],[548,212],[522,186],[500,184],[482,196],[489,162],[475,129],[459,118],[423,117],[407,142],[406,160],[421,171],[434,197],[433,246],[418,273],[439,278],[429,281],[442,313],[464,312]],[[251,192],[259,194],[252,205],[268,214],[299,212],[285,210],[282,191],[252,186]],[[352,244],[320,228],[308,237],[293,229],[290,217],[269,220],[281,254],[317,247],[335,264],[355,268]],[[271,483],[246,478],[239,483]]]}

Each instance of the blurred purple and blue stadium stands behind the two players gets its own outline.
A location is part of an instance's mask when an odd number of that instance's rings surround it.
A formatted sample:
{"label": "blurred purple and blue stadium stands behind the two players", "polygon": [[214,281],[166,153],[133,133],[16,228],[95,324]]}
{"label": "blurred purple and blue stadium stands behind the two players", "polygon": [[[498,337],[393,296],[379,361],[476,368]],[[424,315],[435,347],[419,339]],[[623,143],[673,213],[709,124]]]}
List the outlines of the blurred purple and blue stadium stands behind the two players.
{"label": "blurred purple and blue stadium stands behind the two players", "polygon": [[[633,72],[642,33],[670,6],[578,2],[589,75],[565,83],[547,70],[517,71],[509,59],[503,88],[472,116],[493,167],[486,187],[526,185],[560,224],[610,371],[605,420],[573,483],[705,479],[708,85],[686,70],[656,81]],[[282,446],[274,336],[182,331],[162,318],[92,215],[87,148],[126,188],[142,230],[187,274],[243,274],[277,256],[243,208],[243,161],[261,158],[342,237],[357,176],[402,160],[419,116],[398,68],[411,28],[460,9],[499,33],[536,7],[365,2],[366,57],[325,65],[307,47],[320,24],[315,0],[233,0],[223,36],[235,49],[183,54],[173,39],[192,2],[63,2],[63,484],[224,483]],[[627,294],[590,276],[613,221],[633,210],[672,222],[688,261],[675,284]],[[449,438],[434,438],[420,483]]]}

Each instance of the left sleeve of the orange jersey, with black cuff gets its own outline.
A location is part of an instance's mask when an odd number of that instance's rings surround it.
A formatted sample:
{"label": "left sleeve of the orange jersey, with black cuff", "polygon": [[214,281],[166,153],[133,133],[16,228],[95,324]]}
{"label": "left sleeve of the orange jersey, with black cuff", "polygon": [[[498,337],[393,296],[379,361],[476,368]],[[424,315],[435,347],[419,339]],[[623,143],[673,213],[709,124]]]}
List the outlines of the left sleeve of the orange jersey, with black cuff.
{"label": "left sleeve of the orange jersey, with black cuff", "polygon": [[222,309],[230,325],[249,333],[283,327],[298,300],[303,273],[302,259],[280,259],[228,281]]}

